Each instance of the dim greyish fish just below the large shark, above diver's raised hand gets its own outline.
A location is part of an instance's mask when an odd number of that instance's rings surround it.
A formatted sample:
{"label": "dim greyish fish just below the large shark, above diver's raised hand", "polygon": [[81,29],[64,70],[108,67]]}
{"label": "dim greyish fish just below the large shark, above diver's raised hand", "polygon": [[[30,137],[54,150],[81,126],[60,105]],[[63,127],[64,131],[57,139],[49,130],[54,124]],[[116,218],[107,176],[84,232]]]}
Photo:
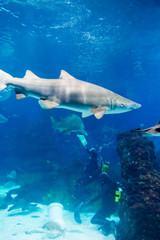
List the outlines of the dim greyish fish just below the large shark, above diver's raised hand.
{"label": "dim greyish fish just below the large shark, above diver's raised hand", "polygon": [[51,121],[54,128],[59,132],[67,135],[70,135],[73,132],[88,135],[87,132],[84,130],[84,124],[78,115],[71,114],[66,118],[61,118],[61,120],[58,122],[51,113],[49,114],[51,116]]}

